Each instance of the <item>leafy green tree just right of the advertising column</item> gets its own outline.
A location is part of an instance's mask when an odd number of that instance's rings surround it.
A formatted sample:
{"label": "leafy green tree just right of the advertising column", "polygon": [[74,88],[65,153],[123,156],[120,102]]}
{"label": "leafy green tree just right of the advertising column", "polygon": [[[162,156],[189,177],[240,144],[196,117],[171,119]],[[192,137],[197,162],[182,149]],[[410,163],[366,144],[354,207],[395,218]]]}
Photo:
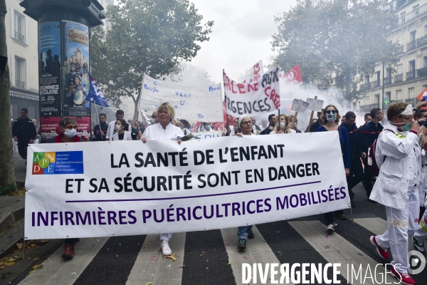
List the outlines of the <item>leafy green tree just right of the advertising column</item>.
{"label": "leafy green tree just right of the advertising column", "polygon": [[201,25],[203,16],[187,0],[120,0],[109,6],[111,28],[93,28],[92,71],[108,100],[117,107],[127,95],[135,103],[136,120],[142,76],[162,78],[191,61],[209,41],[214,25]]}

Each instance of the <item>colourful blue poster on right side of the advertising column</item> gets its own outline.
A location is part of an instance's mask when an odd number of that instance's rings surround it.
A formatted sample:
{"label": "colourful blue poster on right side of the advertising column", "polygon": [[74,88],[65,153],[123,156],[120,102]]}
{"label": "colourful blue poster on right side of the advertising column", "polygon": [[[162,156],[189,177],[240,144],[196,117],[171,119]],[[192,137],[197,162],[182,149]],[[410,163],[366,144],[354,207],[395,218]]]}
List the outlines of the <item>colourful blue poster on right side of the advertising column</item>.
{"label": "colourful blue poster on right side of the advertising column", "polygon": [[73,21],[63,25],[63,115],[88,117],[90,103],[89,28]]}

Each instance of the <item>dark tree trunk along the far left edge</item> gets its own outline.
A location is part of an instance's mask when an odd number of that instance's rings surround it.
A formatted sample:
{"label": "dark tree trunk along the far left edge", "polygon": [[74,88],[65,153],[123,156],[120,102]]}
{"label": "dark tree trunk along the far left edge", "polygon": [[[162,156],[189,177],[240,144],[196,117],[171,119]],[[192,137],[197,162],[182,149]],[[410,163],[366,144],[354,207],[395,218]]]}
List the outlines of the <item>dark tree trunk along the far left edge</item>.
{"label": "dark tree trunk along the far left edge", "polygon": [[[7,57],[6,13],[6,1],[0,0],[0,56]],[[11,81],[9,77],[9,67],[6,63],[4,75],[0,76],[0,187],[16,187],[14,155],[12,154],[9,86],[11,86]]]}

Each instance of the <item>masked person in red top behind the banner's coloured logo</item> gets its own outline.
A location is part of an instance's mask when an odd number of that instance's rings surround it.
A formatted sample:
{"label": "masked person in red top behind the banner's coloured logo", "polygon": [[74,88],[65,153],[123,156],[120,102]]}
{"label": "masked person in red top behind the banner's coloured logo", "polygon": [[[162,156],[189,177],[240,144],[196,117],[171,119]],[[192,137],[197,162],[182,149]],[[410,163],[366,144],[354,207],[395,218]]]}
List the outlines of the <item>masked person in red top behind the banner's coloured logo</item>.
{"label": "masked person in red top behind the banner's coloured logo", "polygon": [[[64,117],[59,122],[61,133],[55,138],[53,142],[88,142],[89,138],[86,135],[77,136],[77,122],[73,118]],[[74,257],[74,244],[80,239],[65,239],[63,259],[72,259]]]}

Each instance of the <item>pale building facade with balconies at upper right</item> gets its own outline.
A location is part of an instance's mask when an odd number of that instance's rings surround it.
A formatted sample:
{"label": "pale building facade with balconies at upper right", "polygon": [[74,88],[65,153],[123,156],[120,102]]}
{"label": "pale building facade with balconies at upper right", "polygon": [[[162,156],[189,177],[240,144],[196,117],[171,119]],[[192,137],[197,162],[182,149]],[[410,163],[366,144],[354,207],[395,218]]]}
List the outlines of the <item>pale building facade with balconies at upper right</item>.
{"label": "pale building facade with balconies at upper right", "polygon": [[377,63],[374,76],[364,76],[362,100],[352,102],[352,110],[369,113],[386,110],[390,103],[416,105],[416,96],[427,87],[427,0],[392,0],[387,9],[396,15],[389,40],[398,43],[394,70]]}

